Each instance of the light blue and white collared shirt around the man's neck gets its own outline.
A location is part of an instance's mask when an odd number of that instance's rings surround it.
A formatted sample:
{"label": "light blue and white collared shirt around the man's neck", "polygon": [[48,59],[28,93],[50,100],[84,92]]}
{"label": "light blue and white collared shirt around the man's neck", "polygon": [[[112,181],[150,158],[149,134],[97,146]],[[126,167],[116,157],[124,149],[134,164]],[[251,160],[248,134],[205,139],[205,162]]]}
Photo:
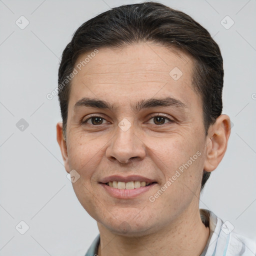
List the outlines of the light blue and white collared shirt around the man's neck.
{"label": "light blue and white collared shirt around the man's neck", "polygon": [[[209,226],[210,234],[200,256],[256,256],[256,241],[233,231],[230,222],[223,222],[213,212],[200,209],[202,222]],[[100,241],[95,237],[85,256],[97,256]]]}

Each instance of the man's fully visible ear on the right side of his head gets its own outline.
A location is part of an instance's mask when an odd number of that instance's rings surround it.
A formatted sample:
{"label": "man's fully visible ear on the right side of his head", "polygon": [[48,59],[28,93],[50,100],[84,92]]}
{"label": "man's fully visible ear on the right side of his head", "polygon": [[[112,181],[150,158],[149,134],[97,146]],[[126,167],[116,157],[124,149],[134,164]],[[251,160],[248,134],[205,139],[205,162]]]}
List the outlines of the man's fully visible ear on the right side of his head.
{"label": "man's fully visible ear on the right side of his head", "polygon": [[230,118],[226,114],[221,114],[216,118],[208,130],[206,139],[206,155],[203,165],[205,171],[214,170],[223,158],[227,141],[230,135]]}

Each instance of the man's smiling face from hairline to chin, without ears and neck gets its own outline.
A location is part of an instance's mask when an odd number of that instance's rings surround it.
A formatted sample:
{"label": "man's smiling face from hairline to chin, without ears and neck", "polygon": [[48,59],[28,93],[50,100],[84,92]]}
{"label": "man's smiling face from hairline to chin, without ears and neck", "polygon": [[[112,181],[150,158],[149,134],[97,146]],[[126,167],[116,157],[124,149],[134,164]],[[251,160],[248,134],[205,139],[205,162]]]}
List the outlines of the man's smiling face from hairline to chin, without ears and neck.
{"label": "man's smiling face from hairline to chin, without ears and neck", "polygon": [[[81,205],[113,233],[150,233],[198,211],[206,138],[192,64],[142,43],[98,49],[72,79],[65,168],[80,175],[72,185]],[[118,189],[108,180],[154,183]]]}

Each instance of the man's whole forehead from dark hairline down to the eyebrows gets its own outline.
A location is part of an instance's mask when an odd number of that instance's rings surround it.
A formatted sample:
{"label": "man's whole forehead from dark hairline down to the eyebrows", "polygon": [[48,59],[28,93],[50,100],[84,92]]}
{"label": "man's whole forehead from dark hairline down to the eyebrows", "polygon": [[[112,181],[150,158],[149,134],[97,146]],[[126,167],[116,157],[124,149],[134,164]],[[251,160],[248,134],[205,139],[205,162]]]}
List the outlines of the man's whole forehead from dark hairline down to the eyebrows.
{"label": "man's whole forehead from dark hairline down to the eyebrows", "polygon": [[81,54],[75,63],[75,66],[79,63],[84,66],[72,79],[71,105],[82,96],[123,103],[127,99],[137,101],[157,94],[157,97],[182,99],[189,106],[191,97],[197,97],[191,84],[193,60],[175,48],[170,50],[148,42],[99,48],[85,63],[88,55],[90,52]]}

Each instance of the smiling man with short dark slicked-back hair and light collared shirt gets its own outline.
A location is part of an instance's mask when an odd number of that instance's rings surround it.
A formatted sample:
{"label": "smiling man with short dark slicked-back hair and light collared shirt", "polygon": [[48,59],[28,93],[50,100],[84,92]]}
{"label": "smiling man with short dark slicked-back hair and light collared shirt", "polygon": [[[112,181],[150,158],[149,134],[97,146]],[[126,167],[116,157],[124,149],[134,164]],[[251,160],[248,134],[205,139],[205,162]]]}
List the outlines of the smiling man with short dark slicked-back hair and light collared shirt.
{"label": "smiling man with short dark slicked-back hair and light collared shirt", "polygon": [[99,235],[90,255],[255,255],[199,194],[230,134],[218,45],[155,2],[82,24],[58,73],[65,169]]}

